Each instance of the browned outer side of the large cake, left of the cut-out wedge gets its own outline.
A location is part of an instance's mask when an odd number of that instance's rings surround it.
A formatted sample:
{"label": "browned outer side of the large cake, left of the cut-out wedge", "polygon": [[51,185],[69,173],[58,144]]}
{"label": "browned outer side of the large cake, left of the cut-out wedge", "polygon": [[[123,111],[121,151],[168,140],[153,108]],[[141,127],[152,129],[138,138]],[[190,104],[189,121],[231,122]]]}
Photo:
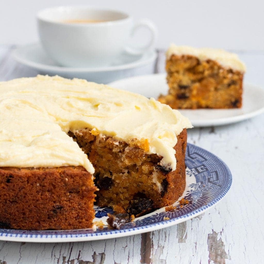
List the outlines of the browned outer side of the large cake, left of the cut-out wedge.
{"label": "browned outer side of the large cake, left of the cut-out wedge", "polygon": [[96,187],[83,167],[2,167],[0,188],[0,228],[92,227]]}

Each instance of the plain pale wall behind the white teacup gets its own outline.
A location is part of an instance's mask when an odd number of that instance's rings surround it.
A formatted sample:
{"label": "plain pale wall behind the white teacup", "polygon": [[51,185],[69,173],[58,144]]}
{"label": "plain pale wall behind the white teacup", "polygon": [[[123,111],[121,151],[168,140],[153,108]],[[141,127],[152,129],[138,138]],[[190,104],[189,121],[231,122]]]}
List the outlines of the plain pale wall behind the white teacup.
{"label": "plain pale wall behind the white teacup", "polygon": [[149,18],[159,30],[157,48],[177,45],[228,50],[264,50],[264,2],[261,0],[2,0],[0,44],[37,41],[35,14],[42,8],[84,5],[119,9],[135,20]]}

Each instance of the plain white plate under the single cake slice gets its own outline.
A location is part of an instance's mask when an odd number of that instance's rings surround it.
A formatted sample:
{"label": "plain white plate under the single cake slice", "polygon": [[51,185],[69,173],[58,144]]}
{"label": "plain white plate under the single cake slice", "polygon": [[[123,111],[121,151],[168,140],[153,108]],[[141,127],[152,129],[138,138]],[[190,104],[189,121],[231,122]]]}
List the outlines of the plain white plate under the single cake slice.
{"label": "plain white plate under the single cake slice", "polygon": [[[121,79],[110,86],[157,98],[167,94],[166,74],[151,74]],[[180,110],[193,126],[218,126],[242,121],[264,112],[264,88],[244,83],[243,106],[240,109]]]}

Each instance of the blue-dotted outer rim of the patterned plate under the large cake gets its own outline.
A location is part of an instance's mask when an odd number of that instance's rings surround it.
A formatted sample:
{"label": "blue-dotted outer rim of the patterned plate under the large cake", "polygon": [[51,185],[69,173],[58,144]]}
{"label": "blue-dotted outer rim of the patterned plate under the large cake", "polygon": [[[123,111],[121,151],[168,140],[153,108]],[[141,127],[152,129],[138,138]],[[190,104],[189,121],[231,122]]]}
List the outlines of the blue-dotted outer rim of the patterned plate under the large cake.
{"label": "blue-dotted outer rim of the patterned plate under the large cake", "polygon": [[[209,210],[210,208],[214,207],[219,201],[221,201],[224,196],[228,193],[230,190],[230,187],[232,185],[232,173],[230,169],[228,168],[227,164],[217,157],[215,154],[211,153],[210,151],[198,147],[194,144],[187,143],[189,146],[194,147],[196,149],[199,149],[202,152],[206,152],[208,155],[210,155],[212,158],[216,159],[221,163],[223,166],[226,177],[225,181],[227,183],[227,186],[225,189],[221,191],[221,194],[218,195],[215,199],[210,201],[208,204],[203,205],[199,207],[198,209],[191,211],[190,213],[177,216],[175,218],[169,219],[169,220],[163,220],[158,223],[152,223],[152,224],[147,224],[144,226],[140,227],[133,227],[133,228],[128,228],[128,229],[120,229],[120,230],[106,230],[105,232],[101,233],[86,233],[86,234],[69,234],[69,235],[35,235],[36,237],[31,237],[31,235],[25,235],[25,234],[14,234],[12,236],[12,233],[8,233],[9,229],[3,229],[4,232],[0,231],[0,241],[13,241],[13,242],[32,242],[32,243],[62,243],[62,242],[81,242],[81,241],[93,241],[93,240],[101,240],[101,239],[111,239],[111,238],[118,238],[118,237],[124,237],[124,236],[130,236],[130,235],[136,235],[136,234],[141,234],[141,233],[146,233],[146,232],[151,232],[154,230],[170,227],[172,225],[176,225],[178,223],[187,221],[189,219],[192,219],[205,211]],[[0,229],[1,230],[1,229]],[[15,229],[10,229],[10,230],[15,230]],[[23,231],[30,231],[30,230],[21,230]],[[69,230],[70,232],[71,230]],[[45,236],[45,237],[43,237]],[[50,237],[47,237],[50,236]],[[55,237],[52,237],[55,236]],[[59,237],[58,237],[59,236]],[[65,236],[65,237],[64,237]]]}

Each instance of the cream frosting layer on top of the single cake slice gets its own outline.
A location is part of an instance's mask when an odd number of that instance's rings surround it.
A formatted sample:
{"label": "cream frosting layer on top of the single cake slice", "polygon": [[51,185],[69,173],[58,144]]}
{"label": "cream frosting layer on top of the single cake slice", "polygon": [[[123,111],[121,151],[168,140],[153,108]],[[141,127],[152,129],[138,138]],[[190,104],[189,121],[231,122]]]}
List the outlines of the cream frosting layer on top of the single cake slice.
{"label": "cream frosting layer on top of the single cake slice", "polygon": [[166,57],[169,59],[171,55],[193,55],[199,60],[215,60],[225,68],[231,68],[240,72],[246,71],[245,64],[239,60],[237,54],[227,52],[222,49],[212,48],[193,48],[189,46],[176,46],[171,44],[166,52]]}

